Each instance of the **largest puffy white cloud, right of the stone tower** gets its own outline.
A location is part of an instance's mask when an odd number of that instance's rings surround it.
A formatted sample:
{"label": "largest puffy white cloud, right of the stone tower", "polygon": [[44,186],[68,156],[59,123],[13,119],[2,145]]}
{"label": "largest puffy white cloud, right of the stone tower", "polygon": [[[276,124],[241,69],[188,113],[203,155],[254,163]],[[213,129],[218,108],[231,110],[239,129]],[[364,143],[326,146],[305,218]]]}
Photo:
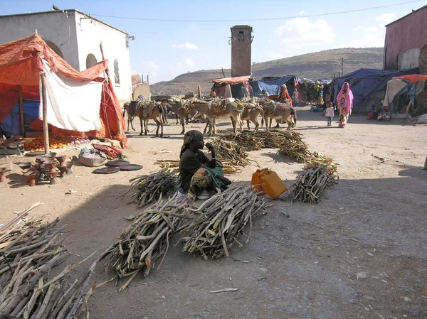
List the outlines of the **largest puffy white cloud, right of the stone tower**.
{"label": "largest puffy white cloud, right of the stone tower", "polygon": [[320,45],[334,43],[334,31],[323,19],[310,22],[308,18],[293,18],[280,26],[278,34],[281,45],[287,48],[301,48],[305,45]]}

